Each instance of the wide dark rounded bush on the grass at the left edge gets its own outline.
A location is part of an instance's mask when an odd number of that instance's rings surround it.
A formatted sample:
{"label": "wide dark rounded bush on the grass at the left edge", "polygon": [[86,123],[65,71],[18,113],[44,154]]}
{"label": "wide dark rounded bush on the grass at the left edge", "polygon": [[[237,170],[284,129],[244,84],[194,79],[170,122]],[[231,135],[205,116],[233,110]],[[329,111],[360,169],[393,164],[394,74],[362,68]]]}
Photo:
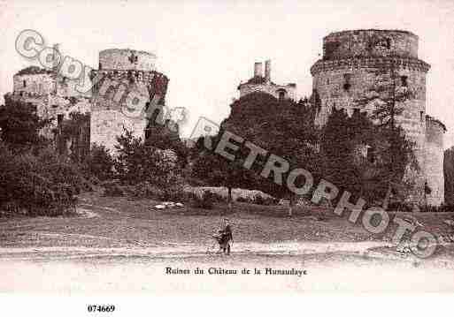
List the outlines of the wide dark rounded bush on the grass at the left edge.
{"label": "wide dark rounded bush on the grass at the left edge", "polygon": [[17,154],[0,145],[0,151],[0,208],[26,215],[75,211],[75,195],[87,189],[88,182],[71,163],[50,149]]}

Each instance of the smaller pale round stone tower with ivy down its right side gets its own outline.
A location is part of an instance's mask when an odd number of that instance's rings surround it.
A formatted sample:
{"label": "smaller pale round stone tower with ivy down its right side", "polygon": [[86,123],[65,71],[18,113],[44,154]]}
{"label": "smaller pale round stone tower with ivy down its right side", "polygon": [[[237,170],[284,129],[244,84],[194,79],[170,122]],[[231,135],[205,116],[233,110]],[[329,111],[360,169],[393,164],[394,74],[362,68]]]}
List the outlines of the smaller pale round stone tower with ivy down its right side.
{"label": "smaller pale round stone tower with ivy down its right side", "polygon": [[[144,110],[155,95],[164,104],[167,77],[156,72],[156,56],[135,49],[105,49],[99,69],[92,73],[91,142],[114,148],[124,128],[145,137],[148,118]],[[96,80],[95,78],[98,78]]]}

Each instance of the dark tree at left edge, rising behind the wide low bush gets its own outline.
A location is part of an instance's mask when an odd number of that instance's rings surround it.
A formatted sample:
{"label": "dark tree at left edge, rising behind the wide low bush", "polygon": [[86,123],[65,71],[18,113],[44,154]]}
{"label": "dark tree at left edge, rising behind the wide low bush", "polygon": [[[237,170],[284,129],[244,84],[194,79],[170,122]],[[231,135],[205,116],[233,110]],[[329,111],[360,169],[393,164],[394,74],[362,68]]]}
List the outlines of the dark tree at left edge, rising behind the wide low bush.
{"label": "dark tree at left edge, rising behind the wide low bush", "polygon": [[4,96],[5,104],[0,106],[0,129],[4,142],[12,147],[32,147],[48,141],[40,134],[50,120],[42,119],[36,113],[36,107],[27,102]]}

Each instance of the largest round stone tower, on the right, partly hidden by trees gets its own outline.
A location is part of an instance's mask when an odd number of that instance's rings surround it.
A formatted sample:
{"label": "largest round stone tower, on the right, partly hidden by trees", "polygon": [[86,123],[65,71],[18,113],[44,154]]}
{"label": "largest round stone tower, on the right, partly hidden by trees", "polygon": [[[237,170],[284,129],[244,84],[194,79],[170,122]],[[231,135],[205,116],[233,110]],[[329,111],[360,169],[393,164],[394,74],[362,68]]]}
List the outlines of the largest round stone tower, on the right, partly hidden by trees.
{"label": "largest round stone tower, on the right, partly hidden by trees", "polygon": [[[323,57],[312,65],[313,94],[319,96],[316,122],[325,125],[333,108],[372,114],[389,101],[389,87],[402,114],[396,117],[415,143],[419,171],[412,172],[414,190],[409,200],[427,202],[425,185],[426,74],[430,65],[418,58],[418,36],[399,30],[353,30],[328,34]],[[394,98],[394,97],[393,97]],[[396,100],[396,98],[395,98]]]}

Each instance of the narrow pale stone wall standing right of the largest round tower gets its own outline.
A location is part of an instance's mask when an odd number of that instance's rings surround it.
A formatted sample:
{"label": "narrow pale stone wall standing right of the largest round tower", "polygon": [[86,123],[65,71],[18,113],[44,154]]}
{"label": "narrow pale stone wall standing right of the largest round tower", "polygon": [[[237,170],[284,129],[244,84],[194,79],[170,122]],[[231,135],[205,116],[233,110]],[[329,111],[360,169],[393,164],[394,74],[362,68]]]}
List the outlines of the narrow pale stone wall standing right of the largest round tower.
{"label": "narrow pale stone wall standing right of the largest round tower", "polygon": [[440,206],[444,201],[444,132],[446,132],[444,125],[427,116],[425,171],[427,185],[431,190],[427,194],[427,204],[431,206]]}

